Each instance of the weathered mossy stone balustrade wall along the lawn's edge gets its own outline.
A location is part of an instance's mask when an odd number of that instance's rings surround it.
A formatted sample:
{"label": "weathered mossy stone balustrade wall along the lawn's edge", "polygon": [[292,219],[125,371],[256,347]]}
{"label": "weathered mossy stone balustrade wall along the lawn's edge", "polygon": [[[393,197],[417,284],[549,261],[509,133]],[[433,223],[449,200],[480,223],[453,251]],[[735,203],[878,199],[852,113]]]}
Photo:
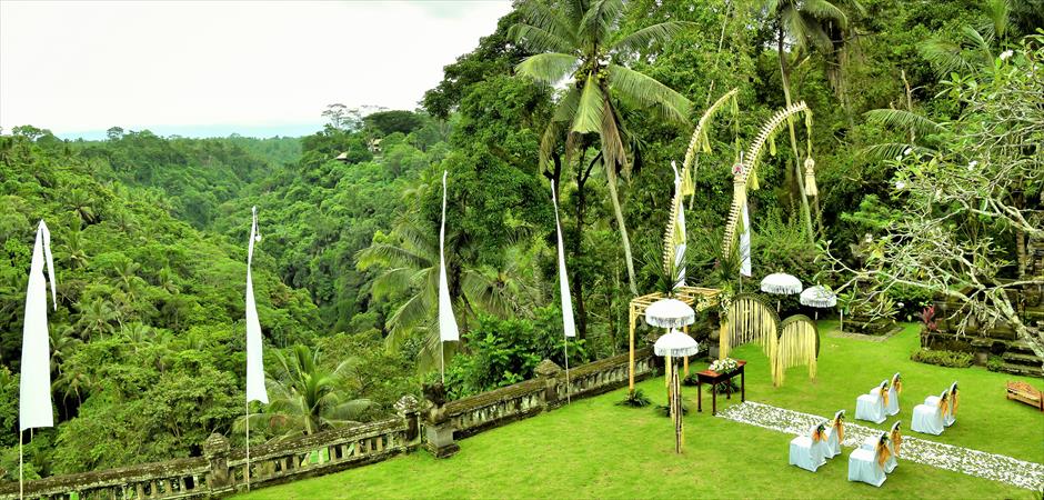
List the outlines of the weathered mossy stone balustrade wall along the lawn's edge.
{"label": "weathered mossy stone balustrade wall along the lawn's edge", "polygon": [[[635,352],[635,377],[653,370],[651,349]],[[545,361],[532,380],[445,404],[446,426],[456,439],[474,436],[550,411],[569,398],[601,394],[628,384],[628,354],[583,364],[565,372]],[[395,404],[398,417],[360,426],[318,432],[285,441],[251,447],[250,486],[270,484],[322,476],[380,462],[424,444],[421,404],[404,397]],[[104,471],[56,476],[26,483],[26,496],[38,499],[189,499],[220,498],[247,490],[247,450],[230,449],[224,437],[213,434],[203,443],[203,457],[145,463]],[[0,500],[19,497],[17,482],[0,484]]]}

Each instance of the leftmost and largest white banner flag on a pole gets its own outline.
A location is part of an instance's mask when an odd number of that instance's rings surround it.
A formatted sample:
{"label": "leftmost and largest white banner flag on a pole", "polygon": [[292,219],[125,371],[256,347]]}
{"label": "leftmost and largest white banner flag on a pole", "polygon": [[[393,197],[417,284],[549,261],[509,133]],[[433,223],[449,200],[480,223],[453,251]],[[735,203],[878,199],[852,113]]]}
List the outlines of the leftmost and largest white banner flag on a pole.
{"label": "leftmost and largest white banner flag on a pole", "polygon": [[26,289],[26,320],[22,328],[21,380],[18,387],[18,429],[54,427],[51,407],[51,350],[47,333],[47,281],[43,263],[51,280],[51,302],[58,309],[54,291],[54,259],[51,258],[51,232],[40,221],[32,247],[29,287]]}

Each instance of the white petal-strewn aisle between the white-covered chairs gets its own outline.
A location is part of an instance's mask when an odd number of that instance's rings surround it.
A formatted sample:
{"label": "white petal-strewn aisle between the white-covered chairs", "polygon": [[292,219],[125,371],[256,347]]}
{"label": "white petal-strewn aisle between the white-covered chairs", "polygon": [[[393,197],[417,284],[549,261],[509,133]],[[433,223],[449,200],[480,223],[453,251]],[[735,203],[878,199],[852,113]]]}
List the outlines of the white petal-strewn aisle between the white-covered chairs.
{"label": "white petal-strewn aisle between the white-covered chairs", "polygon": [[[813,424],[829,420],[824,417],[753,401],[729,407],[724,411],[719,411],[717,417],[792,436],[804,434]],[[865,438],[879,436],[881,432],[850,421],[845,422],[844,429],[842,444],[850,448],[856,448]],[[900,451],[900,461],[903,460],[1006,482],[1018,488],[1035,491],[1044,489],[1044,464],[1042,463],[928,441],[907,433],[903,434],[903,446]]]}

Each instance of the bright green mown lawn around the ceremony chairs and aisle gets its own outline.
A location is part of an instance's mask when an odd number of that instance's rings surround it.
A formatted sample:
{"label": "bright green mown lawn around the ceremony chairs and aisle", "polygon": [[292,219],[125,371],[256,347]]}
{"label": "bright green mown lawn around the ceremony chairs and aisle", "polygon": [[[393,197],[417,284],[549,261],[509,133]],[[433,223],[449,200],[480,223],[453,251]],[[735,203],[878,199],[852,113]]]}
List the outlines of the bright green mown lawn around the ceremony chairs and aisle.
{"label": "bright green mown lawn around the ceremony chairs and aisle", "polygon": [[[914,363],[909,357],[916,346],[914,327],[883,343],[824,334],[819,380],[810,383],[804,369],[795,368],[779,389],[772,388],[765,358],[755,347],[741,347],[734,357],[750,361],[751,400],[822,416],[841,408],[854,416],[859,393],[902,371],[904,398],[896,418],[909,422],[918,400],[956,379],[963,389],[957,423],[928,439],[1044,462],[1044,416],[1004,398],[1004,382],[1011,377]],[[662,378],[646,380],[641,388],[664,399]],[[685,453],[677,456],[669,419],[650,408],[614,404],[625,391],[575,401],[465,439],[460,453],[448,460],[418,452],[241,498],[1035,497],[1028,490],[913,462],[901,462],[880,489],[852,483],[846,480],[851,449],[811,473],[787,466],[791,436],[712,418],[706,407],[696,413],[694,388],[685,389],[693,411],[685,417]]]}

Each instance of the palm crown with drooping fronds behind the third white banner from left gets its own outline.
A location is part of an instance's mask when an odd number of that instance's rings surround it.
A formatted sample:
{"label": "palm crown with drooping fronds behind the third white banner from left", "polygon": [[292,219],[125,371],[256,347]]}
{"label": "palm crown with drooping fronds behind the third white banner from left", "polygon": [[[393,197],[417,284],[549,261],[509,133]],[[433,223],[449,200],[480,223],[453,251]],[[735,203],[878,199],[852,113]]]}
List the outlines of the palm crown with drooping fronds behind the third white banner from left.
{"label": "palm crown with drooping fronds behind the third white banner from left", "polygon": [[[455,250],[466,246],[466,240],[452,229],[446,232],[450,298],[458,317],[465,320],[462,330],[466,331],[466,319],[475,312],[503,316],[510,306],[499,292],[502,288],[498,284],[499,272],[483,272],[464,262]],[[355,259],[360,270],[381,269],[371,283],[374,298],[404,296],[404,301],[388,318],[388,346],[399,346],[414,329],[424,330],[418,369],[435,367],[441,342],[434,321],[439,304],[438,232],[422,228],[415,217],[408,216],[395,226],[387,242],[374,242],[360,250]]]}

